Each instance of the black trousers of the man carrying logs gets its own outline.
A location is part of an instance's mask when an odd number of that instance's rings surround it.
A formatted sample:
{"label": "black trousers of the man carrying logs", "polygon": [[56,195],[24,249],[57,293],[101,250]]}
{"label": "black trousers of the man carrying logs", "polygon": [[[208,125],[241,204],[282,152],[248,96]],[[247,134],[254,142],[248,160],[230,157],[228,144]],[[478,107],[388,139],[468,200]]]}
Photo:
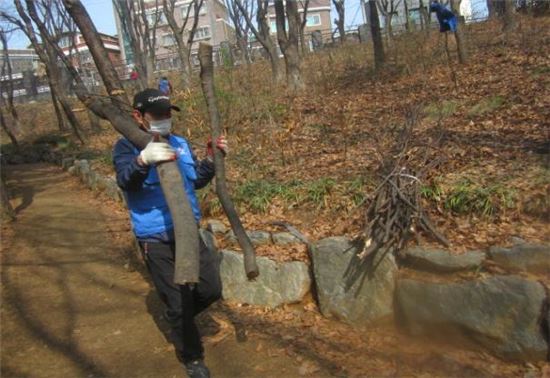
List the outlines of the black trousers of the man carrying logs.
{"label": "black trousers of the man carrying logs", "polygon": [[219,261],[200,239],[199,283],[174,284],[174,243],[140,243],[147,269],[172,328],[171,340],[183,362],[203,358],[204,349],[194,317],[221,297]]}

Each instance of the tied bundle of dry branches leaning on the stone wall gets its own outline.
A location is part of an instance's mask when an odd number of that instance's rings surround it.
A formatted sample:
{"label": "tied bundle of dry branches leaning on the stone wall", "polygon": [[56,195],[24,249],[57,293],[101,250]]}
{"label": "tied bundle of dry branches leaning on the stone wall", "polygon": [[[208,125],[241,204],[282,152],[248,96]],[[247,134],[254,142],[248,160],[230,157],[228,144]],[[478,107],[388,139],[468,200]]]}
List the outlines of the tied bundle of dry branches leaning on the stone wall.
{"label": "tied bundle of dry branches leaning on the stone wall", "polygon": [[399,254],[412,237],[418,241],[419,231],[445,246],[449,245],[433,226],[420,201],[422,179],[439,163],[433,152],[437,151],[443,138],[441,134],[433,145],[413,143],[418,114],[418,108],[407,112],[405,125],[399,131],[394,147],[380,160],[382,182],[371,196],[365,228],[360,235],[363,248],[358,257],[362,260],[373,253]]}

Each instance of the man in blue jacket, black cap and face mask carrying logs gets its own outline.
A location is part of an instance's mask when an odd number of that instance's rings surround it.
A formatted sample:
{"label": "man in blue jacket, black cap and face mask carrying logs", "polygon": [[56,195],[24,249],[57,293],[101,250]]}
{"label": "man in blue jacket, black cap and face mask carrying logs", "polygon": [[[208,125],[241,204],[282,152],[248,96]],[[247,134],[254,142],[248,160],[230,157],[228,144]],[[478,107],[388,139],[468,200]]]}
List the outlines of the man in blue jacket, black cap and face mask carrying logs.
{"label": "man in blue jacket, black cap and face mask carrying logs", "polygon": [[[171,133],[171,113],[180,109],[157,89],[137,93],[133,108],[132,115],[139,127],[167,137],[168,143],[151,142],[140,150],[126,138],[118,140],[113,151],[117,183],[126,197],[132,228],[153,284],[166,305],[165,317],[171,326],[171,341],[178,358],[190,377],[206,378],[210,373],[204,364],[204,349],[193,318],[221,296],[219,264],[201,239],[200,282],[193,287],[174,284],[174,228],[156,166],[177,161],[198,224],[201,213],[195,189],[206,186],[214,177],[212,143],[207,144],[207,157],[197,160],[187,140]],[[225,137],[217,140],[216,148],[226,153]],[[185,312],[188,309],[193,313]]]}

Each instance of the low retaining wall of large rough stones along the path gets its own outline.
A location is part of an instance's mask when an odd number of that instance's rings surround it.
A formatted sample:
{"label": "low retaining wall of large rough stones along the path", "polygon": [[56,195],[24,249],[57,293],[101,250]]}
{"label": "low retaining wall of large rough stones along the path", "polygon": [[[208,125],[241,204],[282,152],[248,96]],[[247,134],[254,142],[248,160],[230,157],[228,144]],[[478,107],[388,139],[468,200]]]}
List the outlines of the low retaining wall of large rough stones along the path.
{"label": "low retaining wall of large rough stones along the path", "polygon": [[[92,190],[116,201],[123,196],[114,177],[94,172],[87,161],[63,159],[61,165]],[[210,248],[215,236],[234,241],[231,230],[209,221],[201,230]],[[286,232],[249,231],[255,245],[300,242]],[[503,358],[538,361],[549,358],[550,247],[516,239],[511,248],[456,255],[443,250],[410,248],[404,258],[393,254],[360,261],[357,248],[345,237],[331,237],[310,246],[312,271],[301,262],[277,263],[259,257],[260,277],[245,278],[242,255],[221,251],[223,296],[230,301],[268,307],[300,302],[316,286],[319,308],[357,327],[399,319],[413,334],[441,335],[450,330]],[[509,275],[490,275],[497,266]],[[398,265],[416,271],[406,278]],[[468,273],[469,278],[461,274]],[[418,278],[420,277],[420,278]],[[541,282],[538,282],[541,281]]]}

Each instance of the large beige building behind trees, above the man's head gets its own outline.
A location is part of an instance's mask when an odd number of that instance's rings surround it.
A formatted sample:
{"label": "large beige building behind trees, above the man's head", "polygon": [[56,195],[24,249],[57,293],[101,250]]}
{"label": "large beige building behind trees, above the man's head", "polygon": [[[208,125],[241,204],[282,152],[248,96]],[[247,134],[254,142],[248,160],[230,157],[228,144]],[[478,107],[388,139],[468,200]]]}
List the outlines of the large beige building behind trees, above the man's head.
{"label": "large beige building behind trees, above the man's head", "polygon": [[[172,29],[168,25],[162,6],[157,7],[159,3],[161,2],[157,3],[155,0],[145,0],[144,3],[149,26],[155,26],[156,24],[155,68],[156,70],[176,69],[180,67],[176,40]],[[191,0],[180,0],[175,3],[174,18],[178,26],[181,27],[183,25],[185,17],[189,14],[189,19],[184,29],[185,39],[194,24],[194,10],[193,8],[189,9],[192,6],[193,2]],[[198,17],[197,29],[191,46],[191,61],[194,64],[198,64],[197,52],[200,42],[209,43],[213,46],[214,51],[217,51],[223,42],[233,43],[235,40],[235,31],[229,22],[228,10],[223,0],[204,0]],[[118,14],[115,15],[115,20],[119,43],[123,46],[122,58],[127,65],[131,65],[133,57],[128,36],[122,30]]]}

